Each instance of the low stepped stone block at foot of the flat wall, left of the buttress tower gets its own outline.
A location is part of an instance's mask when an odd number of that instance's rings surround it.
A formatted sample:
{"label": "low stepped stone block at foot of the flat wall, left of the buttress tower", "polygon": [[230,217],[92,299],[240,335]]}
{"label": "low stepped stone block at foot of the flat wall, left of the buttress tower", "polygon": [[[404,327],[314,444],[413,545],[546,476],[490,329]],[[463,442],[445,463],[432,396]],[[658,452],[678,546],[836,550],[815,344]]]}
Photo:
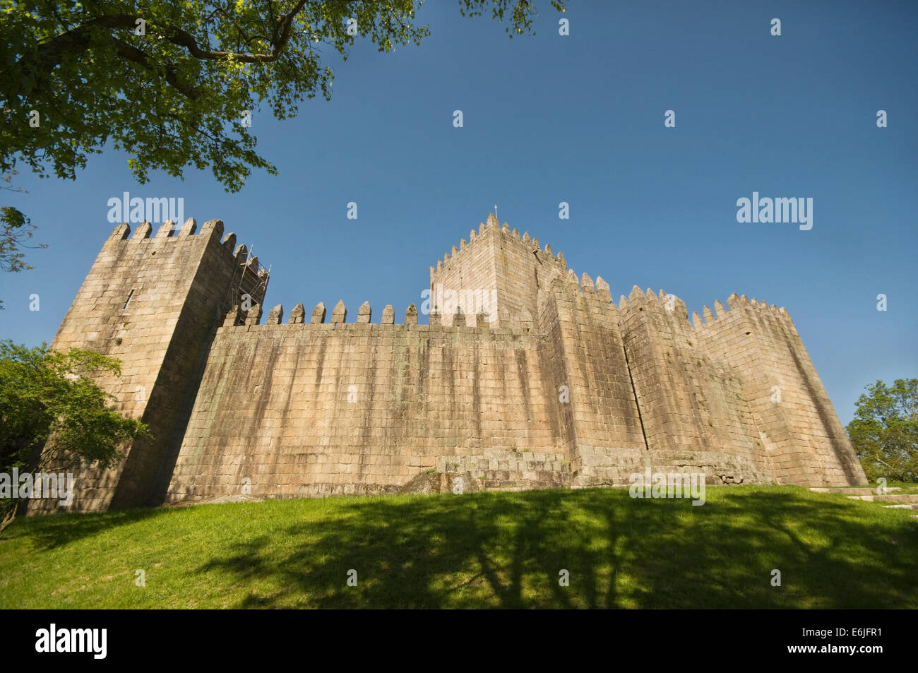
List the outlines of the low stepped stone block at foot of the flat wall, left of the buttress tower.
{"label": "low stepped stone block at foot of the flat wall, left of the buttress tower", "polygon": [[[486,450],[476,455],[441,456],[437,460],[440,490],[462,484],[463,492],[570,488],[571,465],[564,454]],[[457,482],[458,480],[461,480]]]}

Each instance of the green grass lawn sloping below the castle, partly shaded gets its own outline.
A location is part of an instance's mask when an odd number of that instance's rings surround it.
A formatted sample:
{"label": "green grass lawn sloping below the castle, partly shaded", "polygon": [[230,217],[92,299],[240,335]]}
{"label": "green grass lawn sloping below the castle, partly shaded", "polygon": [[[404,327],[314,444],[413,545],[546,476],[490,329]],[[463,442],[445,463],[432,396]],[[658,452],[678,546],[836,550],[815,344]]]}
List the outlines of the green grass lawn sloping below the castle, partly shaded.
{"label": "green grass lawn sloping below the castle, partly shaded", "polygon": [[4,532],[0,608],[918,608],[911,513],[738,486],[58,514]]}

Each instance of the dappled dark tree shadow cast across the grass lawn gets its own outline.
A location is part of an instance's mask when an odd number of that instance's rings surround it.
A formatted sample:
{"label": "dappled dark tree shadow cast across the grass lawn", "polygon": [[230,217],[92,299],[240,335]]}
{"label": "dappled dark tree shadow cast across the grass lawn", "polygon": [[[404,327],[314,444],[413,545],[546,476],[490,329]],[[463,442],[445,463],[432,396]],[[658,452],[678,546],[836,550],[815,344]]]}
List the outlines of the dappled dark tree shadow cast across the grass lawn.
{"label": "dappled dark tree shadow cast across the grass lawn", "polygon": [[[701,507],[620,489],[355,499],[198,571],[279,587],[238,607],[918,606],[918,526],[907,518],[802,489],[713,491]],[[277,547],[278,535],[291,542]]]}

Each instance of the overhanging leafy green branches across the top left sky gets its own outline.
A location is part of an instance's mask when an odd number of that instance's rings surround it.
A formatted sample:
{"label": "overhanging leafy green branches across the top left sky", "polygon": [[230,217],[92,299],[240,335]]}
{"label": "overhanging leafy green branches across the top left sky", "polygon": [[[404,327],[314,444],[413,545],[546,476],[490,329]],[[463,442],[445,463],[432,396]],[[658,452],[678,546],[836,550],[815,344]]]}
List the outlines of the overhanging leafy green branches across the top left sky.
{"label": "overhanging leafy green branches across the top left sky", "polygon": [[[0,171],[18,161],[73,179],[111,141],[130,153],[141,184],[154,169],[180,177],[186,166],[209,166],[238,191],[252,167],[276,174],[255,151],[245,113],[266,106],[284,119],[304,98],[330,98],[325,50],[346,59],[355,39],[380,51],[419,43],[430,34],[415,22],[420,4],[0,0]],[[552,5],[564,11],[564,0]],[[464,16],[489,6],[498,21],[507,17],[510,37],[531,31],[536,15],[534,0],[459,6]]]}

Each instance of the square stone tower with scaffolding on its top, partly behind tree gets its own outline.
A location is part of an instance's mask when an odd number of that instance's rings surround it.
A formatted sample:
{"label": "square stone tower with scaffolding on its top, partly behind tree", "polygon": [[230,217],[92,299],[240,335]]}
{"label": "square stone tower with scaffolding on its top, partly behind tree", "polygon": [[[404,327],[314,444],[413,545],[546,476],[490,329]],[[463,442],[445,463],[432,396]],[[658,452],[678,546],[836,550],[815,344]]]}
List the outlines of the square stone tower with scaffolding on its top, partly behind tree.
{"label": "square stone tower with scaffolding on its top, partly behind tree", "polygon": [[244,245],[233,251],[235,234],[221,241],[222,220],[199,233],[194,219],[178,232],[166,221],[155,237],[149,222],[129,233],[121,224],[108,237],[51,347],[117,357],[121,376],[99,384],[153,436],[125,447],[115,467],[75,476],[80,510],[162,501],[214,331],[242,293],[260,310],[268,281]]}

